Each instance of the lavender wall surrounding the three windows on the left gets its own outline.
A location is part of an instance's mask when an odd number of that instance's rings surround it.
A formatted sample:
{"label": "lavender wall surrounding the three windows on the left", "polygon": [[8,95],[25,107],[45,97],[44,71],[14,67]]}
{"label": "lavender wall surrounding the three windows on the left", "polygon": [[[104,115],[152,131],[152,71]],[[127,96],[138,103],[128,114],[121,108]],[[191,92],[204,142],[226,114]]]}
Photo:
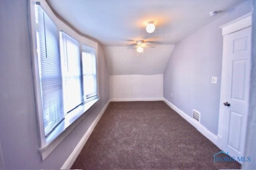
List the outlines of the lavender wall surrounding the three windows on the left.
{"label": "lavender wall surrounding the three windows on the left", "polygon": [[59,169],[109,100],[109,74],[98,47],[100,103],[44,160],[38,152],[36,103],[26,0],[0,0],[0,140],[7,169]]}

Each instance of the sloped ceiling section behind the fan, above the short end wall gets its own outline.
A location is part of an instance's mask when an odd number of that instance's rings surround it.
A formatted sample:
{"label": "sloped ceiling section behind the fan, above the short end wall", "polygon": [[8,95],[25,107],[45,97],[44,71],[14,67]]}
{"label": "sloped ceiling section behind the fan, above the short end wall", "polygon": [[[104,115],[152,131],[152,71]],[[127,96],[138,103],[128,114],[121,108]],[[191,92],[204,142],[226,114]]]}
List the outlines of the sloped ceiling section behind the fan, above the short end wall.
{"label": "sloped ceiling section behind the fan, above the short end wall", "polygon": [[124,46],[105,46],[110,75],[163,74],[174,45],[157,45],[144,48],[136,55],[136,49]]}

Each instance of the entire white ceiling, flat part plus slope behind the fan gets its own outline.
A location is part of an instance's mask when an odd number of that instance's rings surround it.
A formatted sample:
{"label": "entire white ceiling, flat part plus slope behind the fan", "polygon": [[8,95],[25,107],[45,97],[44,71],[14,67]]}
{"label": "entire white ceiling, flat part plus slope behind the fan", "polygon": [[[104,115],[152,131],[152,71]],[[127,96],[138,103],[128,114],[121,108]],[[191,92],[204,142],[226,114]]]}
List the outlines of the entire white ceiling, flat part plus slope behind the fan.
{"label": "entire white ceiling, flat part plus slope behind the fan", "polygon": [[[174,44],[244,0],[47,0],[78,31],[102,43],[110,75],[163,74]],[[216,16],[209,16],[211,11]],[[156,30],[147,33],[147,21]],[[152,41],[136,55],[129,45]]]}

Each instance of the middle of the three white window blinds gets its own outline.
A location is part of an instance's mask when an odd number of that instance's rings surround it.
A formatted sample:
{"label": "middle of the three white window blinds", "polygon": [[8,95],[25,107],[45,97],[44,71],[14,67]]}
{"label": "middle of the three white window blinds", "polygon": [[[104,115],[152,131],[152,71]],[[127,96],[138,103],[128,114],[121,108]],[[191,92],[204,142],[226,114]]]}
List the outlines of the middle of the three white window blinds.
{"label": "middle of the three white window blinds", "polygon": [[83,103],[79,42],[60,32],[64,109],[68,113]]}

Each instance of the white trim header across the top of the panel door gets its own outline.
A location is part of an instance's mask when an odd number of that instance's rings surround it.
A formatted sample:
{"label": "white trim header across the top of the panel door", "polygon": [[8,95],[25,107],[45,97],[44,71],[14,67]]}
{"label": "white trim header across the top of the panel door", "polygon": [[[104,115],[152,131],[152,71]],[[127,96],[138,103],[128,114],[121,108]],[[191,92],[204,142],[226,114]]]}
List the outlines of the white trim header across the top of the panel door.
{"label": "white trim header across the top of the panel door", "polygon": [[230,21],[225,25],[220,26],[222,28],[222,35],[227,35],[252,25],[252,12],[245,14],[237,18],[236,20]]}

